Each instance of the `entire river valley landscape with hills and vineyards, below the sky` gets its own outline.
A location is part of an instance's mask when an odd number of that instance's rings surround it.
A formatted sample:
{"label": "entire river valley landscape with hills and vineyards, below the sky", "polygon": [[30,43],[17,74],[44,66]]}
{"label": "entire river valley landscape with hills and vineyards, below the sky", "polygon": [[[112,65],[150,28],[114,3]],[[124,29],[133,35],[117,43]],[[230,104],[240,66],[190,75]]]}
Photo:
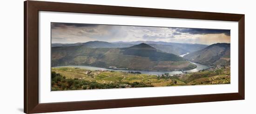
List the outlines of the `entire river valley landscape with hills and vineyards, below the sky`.
{"label": "entire river valley landscape with hills and vineyards, below the sky", "polygon": [[229,84],[230,44],[53,44],[51,71],[53,91]]}

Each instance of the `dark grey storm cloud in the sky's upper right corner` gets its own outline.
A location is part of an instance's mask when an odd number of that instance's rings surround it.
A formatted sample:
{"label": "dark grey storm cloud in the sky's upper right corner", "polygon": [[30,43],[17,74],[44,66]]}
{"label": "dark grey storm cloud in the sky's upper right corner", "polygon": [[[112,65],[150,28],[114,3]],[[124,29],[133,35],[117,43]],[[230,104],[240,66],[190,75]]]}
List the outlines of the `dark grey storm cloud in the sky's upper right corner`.
{"label": "dark grey storm cloud in the sky's upper right corner", "polygon": [[175,30],[176,32],[189,33],[189,34],[221,34],[224,33],[230,36],[230,30],[222,29],[200,29],[200,28],[179,28]]}

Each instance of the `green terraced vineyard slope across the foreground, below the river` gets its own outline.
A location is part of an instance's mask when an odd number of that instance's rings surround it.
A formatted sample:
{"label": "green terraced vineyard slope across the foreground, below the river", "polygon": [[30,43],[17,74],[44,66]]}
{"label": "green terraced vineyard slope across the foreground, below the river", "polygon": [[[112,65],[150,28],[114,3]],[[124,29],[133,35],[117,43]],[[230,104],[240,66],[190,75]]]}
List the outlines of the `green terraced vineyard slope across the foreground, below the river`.
{"label": "green terraced vineyard slope across the foreground, below the river", "polygon": [[[61,76],[61,79],[55,79],[52,76],[52,90],[105,89],[105,85],[111,85],[108,88],[133,88],[230,83],[230,68],[210,69],[174,76],[169,76],[168,74],[156,76],[110,70],[86,70],[72,67],[52,68],[52,75],[53,73]],[[87,85],[80,83],[79,85],[72,86],[72,84],[67,83],[70,80],[86,82]],[[91,83],[101,86],[90,88]]]}

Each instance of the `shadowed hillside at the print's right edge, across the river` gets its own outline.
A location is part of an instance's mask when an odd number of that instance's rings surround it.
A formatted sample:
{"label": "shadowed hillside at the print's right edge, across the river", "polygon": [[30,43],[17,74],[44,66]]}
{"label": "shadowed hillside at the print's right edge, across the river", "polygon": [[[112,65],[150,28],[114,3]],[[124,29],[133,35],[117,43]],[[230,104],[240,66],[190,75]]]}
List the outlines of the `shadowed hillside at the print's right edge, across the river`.
{"label": "shadowed hillside at the print's right edge, across the river", "polygon": [[184,56],[185,59],[206,65],[230,65],[230,44],[217,43]]}

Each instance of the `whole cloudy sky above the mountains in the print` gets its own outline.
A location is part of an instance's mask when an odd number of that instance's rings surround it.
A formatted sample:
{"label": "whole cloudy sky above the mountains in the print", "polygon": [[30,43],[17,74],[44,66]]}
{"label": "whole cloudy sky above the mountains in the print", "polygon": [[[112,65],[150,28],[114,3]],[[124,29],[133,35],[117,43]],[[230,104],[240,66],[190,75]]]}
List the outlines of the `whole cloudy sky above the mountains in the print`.
{"label": "whole cloudy sky above the mountains in the print", "polygon": [[230,43],[230,30],[51,23],[52,43],[88,41],[164,41],[176,43]]}

